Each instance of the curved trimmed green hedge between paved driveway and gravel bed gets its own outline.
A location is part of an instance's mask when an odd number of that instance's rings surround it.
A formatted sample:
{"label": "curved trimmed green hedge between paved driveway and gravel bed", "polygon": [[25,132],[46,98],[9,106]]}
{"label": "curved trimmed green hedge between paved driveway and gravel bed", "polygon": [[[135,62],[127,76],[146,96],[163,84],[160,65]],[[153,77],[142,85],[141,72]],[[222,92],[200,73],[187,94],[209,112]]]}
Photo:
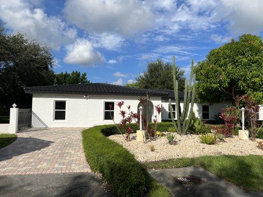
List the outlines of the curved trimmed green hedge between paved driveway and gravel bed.
{"label": "curved trimmed green hedge between paved driveway and gravel bed", "polygon": [[[96,126],[82,131],[83,148],[91,168],[100,172],[120,197],[140,197],[146,191],[151,197],[159,194],[170,197],[167,188],[150,177],[130,152],[106,137],[116,133],[113,126]],[[137,126],[133,124],[132,127]]]}

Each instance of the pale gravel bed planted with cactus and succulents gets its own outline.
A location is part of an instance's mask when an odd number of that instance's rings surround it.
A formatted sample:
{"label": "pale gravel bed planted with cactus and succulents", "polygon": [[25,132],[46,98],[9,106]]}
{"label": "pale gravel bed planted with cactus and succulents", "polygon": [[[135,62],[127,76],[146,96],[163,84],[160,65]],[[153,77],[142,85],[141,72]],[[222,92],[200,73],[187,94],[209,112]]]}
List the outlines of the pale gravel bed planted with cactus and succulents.
{"label": "pale gravel bed planted with cactus and succulents", "polygon": [[[165,132],[166,134],[168,132]],[[183,157],[199,157],[205,155],[263,155],[263,150],[257,147],[257,142],[242,140],[238,136],[224,138],[216,144],[203,144],[199,135],[179,135],[175,133],[177,143],[171,145],[166,136],[159,137],[147,143],[137,142],[136,133],[131,134],[131,141],[125,141],[121,135],[111,135],[110,139],[121,144],[130,151],[139,162],[176,159]],[[256,139],[260,141],[262,139]],[[154,146],[154,151],[150,146]]]}

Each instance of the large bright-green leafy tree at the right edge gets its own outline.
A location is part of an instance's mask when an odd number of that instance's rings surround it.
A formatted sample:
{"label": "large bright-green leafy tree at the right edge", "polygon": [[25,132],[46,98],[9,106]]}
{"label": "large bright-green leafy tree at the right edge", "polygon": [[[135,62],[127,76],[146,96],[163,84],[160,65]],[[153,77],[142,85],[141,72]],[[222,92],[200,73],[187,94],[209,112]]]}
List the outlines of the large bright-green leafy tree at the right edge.
{"label": "large bright-green leafy tree at the right edge", "polygon": [[243,34],[211,50],[195,67],[196,99],[210,103],[248,94],[263,103],[263,42],[260,36]]}

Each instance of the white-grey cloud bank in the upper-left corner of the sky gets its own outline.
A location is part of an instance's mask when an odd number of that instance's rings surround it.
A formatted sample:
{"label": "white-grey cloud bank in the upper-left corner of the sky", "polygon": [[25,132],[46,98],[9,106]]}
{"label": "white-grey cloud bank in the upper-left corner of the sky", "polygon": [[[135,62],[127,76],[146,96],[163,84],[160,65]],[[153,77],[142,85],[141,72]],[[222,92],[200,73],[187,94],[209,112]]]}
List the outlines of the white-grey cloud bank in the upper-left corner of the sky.
{"label": "white-grey cloud bank in the upper-left corner of the sky", "polygon": [[48,17],[43,9],[34,8],[39,3],[38,0],[0,0],[0,19],[13,31],[26,33],[55,50],[75,40],[77,31],[60,18]]}

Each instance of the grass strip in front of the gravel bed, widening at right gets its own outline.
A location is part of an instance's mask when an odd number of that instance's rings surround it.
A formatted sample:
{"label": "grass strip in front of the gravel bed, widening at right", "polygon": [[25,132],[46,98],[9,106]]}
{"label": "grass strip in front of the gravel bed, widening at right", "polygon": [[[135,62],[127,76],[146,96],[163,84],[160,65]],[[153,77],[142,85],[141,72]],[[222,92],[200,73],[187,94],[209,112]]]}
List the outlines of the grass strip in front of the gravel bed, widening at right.
{"label": "grass strip in front of the gravel bed, widening at right", "polygon": [[204,156],[144,164],[147,168],[200,166],[247,191],[263,191],[263,156]]}

